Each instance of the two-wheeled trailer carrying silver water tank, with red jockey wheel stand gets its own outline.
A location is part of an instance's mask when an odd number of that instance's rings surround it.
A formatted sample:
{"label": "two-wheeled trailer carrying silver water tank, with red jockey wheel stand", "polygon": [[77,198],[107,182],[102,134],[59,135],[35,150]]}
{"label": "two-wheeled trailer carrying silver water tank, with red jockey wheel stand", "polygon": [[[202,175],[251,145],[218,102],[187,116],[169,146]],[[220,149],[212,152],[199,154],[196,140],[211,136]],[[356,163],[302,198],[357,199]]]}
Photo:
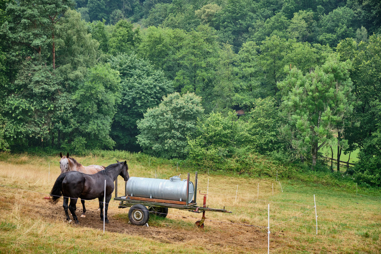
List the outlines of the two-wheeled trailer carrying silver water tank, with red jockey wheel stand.
{"label": "two-wheeled trailer carrying silver water tank, with red jockey wheel stand", "polygon": [[[128,219],[133,225],[145,225],[149,214],[155,213],[160,217],[166,217],[168,208],[188,210],[201,213],[202,219],[195,223],[204,228],[205,211],[229,212],[225,209],[215,209],[206,206],[207,194],[203,196],[203,206],[197,206],[197,172],[194,184],[187,179],[181,180],[180,175],[168,179],[130,177],[125,182],[125,195],[118,197],[118,180],[115,180],[115,198],[119,208],[131,207],[128,211]],[[229,212],[231,213],[231,212]]]}

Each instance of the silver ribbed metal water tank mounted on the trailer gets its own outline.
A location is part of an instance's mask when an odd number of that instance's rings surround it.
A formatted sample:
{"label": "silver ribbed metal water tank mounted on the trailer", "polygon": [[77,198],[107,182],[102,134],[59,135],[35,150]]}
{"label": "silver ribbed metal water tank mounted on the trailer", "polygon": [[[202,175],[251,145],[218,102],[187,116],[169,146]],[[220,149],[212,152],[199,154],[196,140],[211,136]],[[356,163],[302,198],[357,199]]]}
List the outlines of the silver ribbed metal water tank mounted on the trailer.
{"label": "silver ribbed metal water tank mounted on the trailer", "polygon": [[[187,180],[181,180],[179,176],[169,180],[130,177],[126,184],[126,194],[133,197],[157,198],[176,201],[186,201]],[[194,195],[194,185],[189,182],[188,203],[191,203]]]}

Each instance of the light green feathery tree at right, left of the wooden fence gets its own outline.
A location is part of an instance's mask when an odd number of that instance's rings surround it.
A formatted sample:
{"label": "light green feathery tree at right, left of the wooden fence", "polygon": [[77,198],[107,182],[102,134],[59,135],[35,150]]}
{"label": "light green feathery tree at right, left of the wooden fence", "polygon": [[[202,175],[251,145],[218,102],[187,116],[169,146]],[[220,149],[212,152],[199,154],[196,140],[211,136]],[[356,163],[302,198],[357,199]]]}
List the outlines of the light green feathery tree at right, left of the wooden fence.
{"label": "light green feathery tree at right, left of the wooden fence", "polygon": [[291,69],[278,84],[286,123],[281,133],[298,155],[311,155],[312,168],[320,148],[336,141],[334,129],[344,128],[344,120],[352,114],[350,68],[350,61],[341,62],[338,56],[332,56],[305,75],[297,68]]}

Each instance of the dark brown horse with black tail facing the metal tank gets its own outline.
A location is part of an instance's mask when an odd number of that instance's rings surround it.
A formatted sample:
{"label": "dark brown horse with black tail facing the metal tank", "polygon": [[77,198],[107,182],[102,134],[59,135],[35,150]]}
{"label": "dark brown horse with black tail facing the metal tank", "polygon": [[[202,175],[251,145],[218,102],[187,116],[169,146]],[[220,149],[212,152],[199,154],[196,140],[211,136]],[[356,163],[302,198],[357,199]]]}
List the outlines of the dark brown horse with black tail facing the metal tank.
{"label": "dark brown horse with black tail facing the metal tank", "polygon": [[[98,198],[99,207],[101,208],[101,220],[103,220],[103,198],[106,196],[106,205],[104,209],[105,222],[108,223],[107,219],[107,209],[109,207],[109,202],[111,200],[112,192],[114,191],[114,181],[121,175],[125,181],[128,180],[128,166],[127,161],[111,164],[106,167],[106,169],[99,171],[93,175],[83,174],[78,171],[69,171],[59,175],[53,188],[50,192],[49,202],[56,204],[58,199],[63,195],[64,198],[64,211],[66,214],[66,220],[70,222],[69,213],[67,209],[69,208],[73,220],[78,223],[78,217],[75,214],[77,209],[78,198],[84,200],[90,200]],[[104,192],[104,184],[106,180],[106,193]],[[70,198],[70,204],[69,203]]]}

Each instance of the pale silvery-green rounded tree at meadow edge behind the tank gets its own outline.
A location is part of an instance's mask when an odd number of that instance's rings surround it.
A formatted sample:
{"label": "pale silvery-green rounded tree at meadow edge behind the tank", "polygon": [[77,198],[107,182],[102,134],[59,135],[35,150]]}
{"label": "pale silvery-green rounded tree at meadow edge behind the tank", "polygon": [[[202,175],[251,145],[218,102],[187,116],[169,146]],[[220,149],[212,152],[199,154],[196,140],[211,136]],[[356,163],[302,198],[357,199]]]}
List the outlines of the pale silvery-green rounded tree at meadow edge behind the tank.
{"label": "pale silvery-green rounded tree at meadow edge behind the tank", "polygon": [[195,122],[204,109],[194,93],[172,93],[156,107],[147,110],[137,122],[138,143],[146,153],[165,158],[183,157],[187,137],[194,136]]}

